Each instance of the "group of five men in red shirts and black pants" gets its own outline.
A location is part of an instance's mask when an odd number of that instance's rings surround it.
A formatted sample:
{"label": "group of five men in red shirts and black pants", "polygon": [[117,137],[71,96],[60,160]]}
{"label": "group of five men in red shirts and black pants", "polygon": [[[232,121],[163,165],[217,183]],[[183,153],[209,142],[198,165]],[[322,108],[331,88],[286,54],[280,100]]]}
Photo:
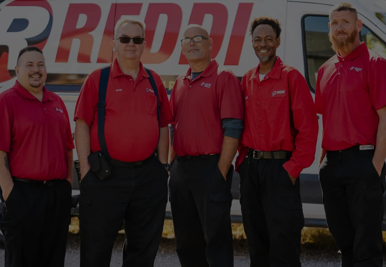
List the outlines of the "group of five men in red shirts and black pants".
{"label": "group of five men in red shirts and black pants", "polygon": [[[339,4],[329,19],[336,55],[318,71],[315,104],[304,76],[276,55],[276,19],[251,23],[260,63],[241,83],[211,58],[208,32],[188,26],[181,47],[190,68],[170,101],[160,76],[141,63],[145,24],[119,20],[116,57],[87,76],[75,108],[80,265],[109,266],[124,225],[122,266],[153,266],[169,197],[181,265],[233,266],[235,169],[250,266],[301,266],[299,175],[315,158],[318,113],[323,204],[342,266],[382,266],[386,60],[360,42],[354,7]],[[63,266],[74,148],[69,118],[44,87],[42,51],[20,51],[16,74],[15,86],[0,95],[5,262]]]}

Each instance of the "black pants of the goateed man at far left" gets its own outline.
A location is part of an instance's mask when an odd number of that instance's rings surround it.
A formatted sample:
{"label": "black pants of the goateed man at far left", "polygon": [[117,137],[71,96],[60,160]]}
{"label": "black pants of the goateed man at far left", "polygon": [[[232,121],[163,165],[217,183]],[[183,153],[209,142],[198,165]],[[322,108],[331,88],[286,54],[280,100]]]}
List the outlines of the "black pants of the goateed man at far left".
{"label": "black pants of the goateed man at far left", "polygon": [[6,267],[63,267],[71,223],[71,184],[15,181],[4,202],[0,227],[5,237]]}

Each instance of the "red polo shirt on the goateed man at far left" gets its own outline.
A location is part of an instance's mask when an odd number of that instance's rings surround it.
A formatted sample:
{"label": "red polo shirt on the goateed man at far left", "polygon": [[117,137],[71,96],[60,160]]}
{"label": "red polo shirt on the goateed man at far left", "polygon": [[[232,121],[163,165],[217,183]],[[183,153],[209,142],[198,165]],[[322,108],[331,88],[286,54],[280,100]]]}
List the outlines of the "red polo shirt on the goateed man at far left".
{"label": "red polo shirt on the goateed man at far left", "polygon": [[8,153],[12,176],[47,181],[68,177],[74,148],[62,99],[43,87],[40,102],[18,81],[0,95],[0,150]]}

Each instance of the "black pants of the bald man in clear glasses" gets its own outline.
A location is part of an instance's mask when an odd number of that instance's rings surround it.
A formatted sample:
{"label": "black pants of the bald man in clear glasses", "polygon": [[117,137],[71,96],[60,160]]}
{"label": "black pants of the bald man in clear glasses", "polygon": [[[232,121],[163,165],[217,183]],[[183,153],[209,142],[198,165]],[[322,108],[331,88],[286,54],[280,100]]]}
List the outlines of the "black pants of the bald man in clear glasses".
{"label": "black pants of the bald man in clear glasses", "polygon": [[233,165],[225,182],[219,155],[178,157],[169,191],[176,251],[182,267],[233,266],[230,222]]}

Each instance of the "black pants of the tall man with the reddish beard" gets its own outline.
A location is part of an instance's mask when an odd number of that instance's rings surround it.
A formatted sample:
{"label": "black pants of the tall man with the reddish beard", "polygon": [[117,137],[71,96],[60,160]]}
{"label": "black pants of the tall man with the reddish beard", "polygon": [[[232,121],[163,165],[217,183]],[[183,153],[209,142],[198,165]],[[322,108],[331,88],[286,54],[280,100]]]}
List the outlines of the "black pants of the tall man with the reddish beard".
{"label": "black pants of the tall man with the reddish beard", "polygon": [[327,151],[320,184],[329,230],[342,253],[342,267],[382,266],[385,164],[379,177],[374,150]]}

